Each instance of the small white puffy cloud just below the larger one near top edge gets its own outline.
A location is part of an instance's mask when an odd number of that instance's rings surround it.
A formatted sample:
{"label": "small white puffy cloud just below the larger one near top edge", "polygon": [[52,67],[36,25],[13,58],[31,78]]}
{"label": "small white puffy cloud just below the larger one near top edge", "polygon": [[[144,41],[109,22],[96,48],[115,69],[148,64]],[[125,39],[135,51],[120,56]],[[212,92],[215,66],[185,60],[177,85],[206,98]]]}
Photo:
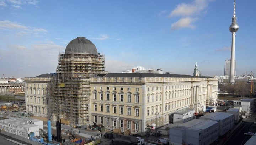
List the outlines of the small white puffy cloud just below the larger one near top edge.
{"label": "small white puffy cloud just below the larger one near top edge", "polygon": [[171,24],[171,30],[178,30],[182,28],[194,29],[196,28],[196,26],[191,24],[194,21],[196,21],[196,18],[190,18],[190,17],[181,18],[177,22]]}

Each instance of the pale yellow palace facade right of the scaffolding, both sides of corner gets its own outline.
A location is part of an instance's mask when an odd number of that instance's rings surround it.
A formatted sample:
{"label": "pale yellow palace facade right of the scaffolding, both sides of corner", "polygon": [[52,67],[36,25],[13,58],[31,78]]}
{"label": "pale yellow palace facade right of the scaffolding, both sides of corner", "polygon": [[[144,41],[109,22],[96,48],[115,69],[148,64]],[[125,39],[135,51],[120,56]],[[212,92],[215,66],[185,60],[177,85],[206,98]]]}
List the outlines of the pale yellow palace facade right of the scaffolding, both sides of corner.
{"label": "pale yellow palace facade right of the scaffolding, both sides of corner", "polygon": [[168,124],[169,116],[177,110],[192,108],[199,112],[201,106],[213,105],[217,88],[218,80],[209,77],[92,78],[91,124],[143,133],[151,123]]}

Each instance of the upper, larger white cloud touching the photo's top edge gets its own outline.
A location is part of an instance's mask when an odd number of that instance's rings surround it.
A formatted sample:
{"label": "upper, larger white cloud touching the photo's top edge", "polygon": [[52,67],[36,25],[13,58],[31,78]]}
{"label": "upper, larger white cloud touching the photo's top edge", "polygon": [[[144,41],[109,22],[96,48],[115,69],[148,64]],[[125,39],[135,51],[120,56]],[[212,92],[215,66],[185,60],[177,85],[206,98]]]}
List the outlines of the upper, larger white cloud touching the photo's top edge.
{"label": "upper, larger white cloud touching the photo's top edge", "polygon": [[204,11],[208,6],[209,0],[195,0],[192,3],[181,3],[178,4],[177,7],[172,10],[169,17],[173,16],[192,16],[199,15],[202,11]]}

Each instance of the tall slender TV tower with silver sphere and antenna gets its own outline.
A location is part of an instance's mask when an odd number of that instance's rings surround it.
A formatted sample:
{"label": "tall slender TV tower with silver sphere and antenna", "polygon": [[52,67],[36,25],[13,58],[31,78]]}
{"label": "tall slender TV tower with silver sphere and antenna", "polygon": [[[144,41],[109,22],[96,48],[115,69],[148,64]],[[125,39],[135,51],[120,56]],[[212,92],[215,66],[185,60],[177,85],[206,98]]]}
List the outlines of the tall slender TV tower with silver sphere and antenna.
{"label": "tall slender TV tower with silver sphere and antenna", "polygon": [[229,82],[235,83],[235,33],[238,31],[239,26],[236,22],[235,16],[235,0],[234,0],[234,15],[232,17],[232,24],[229,26],[229,31],[232,32],[232,45],[231,45],[231,61],[230,61],[230,73]]}

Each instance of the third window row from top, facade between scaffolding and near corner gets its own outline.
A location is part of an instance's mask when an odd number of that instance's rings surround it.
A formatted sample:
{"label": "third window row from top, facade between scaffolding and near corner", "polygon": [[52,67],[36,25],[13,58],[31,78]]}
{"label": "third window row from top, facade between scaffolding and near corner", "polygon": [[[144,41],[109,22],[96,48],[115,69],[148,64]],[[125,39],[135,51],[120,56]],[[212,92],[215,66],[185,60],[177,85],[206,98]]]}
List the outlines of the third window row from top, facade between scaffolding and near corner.
{"label": "third window row from top, facade between scaffolding and near corner", "polygon": [[[94,111],[97,111],[97,104],[94,104]],[[100,105],[100,111],[103,112],[103,105]],[[106,112],[110,113],[110,106],[106,105]],[[117,107],[113,106],[113,113],[117,113]],[[120,107],[119,114],[124,114],[124,108]],[[127,115],[131,115],[131,108],[127,107]],[[139,108],[135,108],[135,116],[139,116]]]}

